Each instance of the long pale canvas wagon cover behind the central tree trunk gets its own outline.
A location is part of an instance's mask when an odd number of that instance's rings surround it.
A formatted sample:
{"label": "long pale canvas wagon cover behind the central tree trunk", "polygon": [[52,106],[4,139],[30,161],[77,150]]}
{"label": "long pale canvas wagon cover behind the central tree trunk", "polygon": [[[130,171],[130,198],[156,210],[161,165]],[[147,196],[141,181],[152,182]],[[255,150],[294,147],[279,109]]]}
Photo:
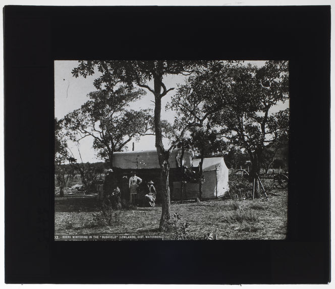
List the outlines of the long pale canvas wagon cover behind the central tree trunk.
{"label": "long pale canvas wagon cover behind the central tree trunk", "polygon": [[[179,167],[181,149],[171,152],[169,162],[171,168]],[[192,163],[192,151],[184,150],[183,165],[190,167]],[[159,168],[156,150],[141,150],[128,152],[115,152],[113,154],[113,167],[123,169],[151,169]]]}

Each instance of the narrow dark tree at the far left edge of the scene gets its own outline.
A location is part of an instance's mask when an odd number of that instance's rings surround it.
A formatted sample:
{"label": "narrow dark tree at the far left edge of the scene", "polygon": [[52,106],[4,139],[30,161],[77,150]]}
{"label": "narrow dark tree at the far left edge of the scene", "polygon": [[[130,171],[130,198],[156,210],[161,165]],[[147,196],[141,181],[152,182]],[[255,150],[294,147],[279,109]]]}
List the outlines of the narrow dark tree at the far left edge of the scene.
{"label": "narrow dark tree at the far left edge of the scene", "polygon": [[58,120],[57,118],[54,119],[54,132],[54,171],[60,187],[60,197],[64,197],[64,188],[66,187],[70,176],[74,174],[74,170],[65,165],[65,162],[69,158],[69,154],[62,120]]}

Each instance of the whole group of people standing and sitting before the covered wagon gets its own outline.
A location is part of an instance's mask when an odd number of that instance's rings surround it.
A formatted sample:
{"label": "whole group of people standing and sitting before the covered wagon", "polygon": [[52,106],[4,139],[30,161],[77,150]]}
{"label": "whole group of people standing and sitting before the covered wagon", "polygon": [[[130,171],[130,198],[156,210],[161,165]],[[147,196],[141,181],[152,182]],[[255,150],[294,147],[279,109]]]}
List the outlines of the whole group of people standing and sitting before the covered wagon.
{"label": "whole group of people standing and sitting before the covered wagon", "polygon": [[[127,178],[128,179],[128,178]],[[126,179],[126,180],[127,180]],[[145,183],[145,182],[144,182]],[[129,207],[136,207],[138,205],[154,207],[156,201],[156,189],[152,181],[144,184],[142,179],[137,177],[135,172],[131,172],[129,178],[128,188],[122,186],[123,192],[129,189]],[[124,184],[124,183],[123,183]],[[103,204],[110,204],[116,209],[121,208],[121,190],[117,182],[105,188],[105,195],[103,196]],[[126,197],[128,194],[123,195]],[[123,198],[124,198],[123,197]]]}

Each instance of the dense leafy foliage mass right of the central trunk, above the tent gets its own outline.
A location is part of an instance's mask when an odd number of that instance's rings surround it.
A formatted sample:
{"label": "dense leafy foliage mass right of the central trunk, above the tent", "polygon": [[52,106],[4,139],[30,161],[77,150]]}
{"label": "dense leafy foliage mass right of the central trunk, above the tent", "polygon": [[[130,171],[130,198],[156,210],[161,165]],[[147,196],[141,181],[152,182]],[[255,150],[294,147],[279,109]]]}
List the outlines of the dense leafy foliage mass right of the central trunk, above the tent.
{"label": "dense leafy foliage mass right of the central trunk, above the tent", "polygon": [[[182,122],[193,120],[203,127],[206,121],[212,132],[228,140],[230,148],[245,150],[255,176],[264,147],[288,141],[289,109],[272,111],[288,100],[288,92],[287,62],[268,61],[263,67],[218,62],[180,86],[170,108],[177,111],[176,129]],[[205,136],[204,130],[199,138],[193,135],[202,145]]]}

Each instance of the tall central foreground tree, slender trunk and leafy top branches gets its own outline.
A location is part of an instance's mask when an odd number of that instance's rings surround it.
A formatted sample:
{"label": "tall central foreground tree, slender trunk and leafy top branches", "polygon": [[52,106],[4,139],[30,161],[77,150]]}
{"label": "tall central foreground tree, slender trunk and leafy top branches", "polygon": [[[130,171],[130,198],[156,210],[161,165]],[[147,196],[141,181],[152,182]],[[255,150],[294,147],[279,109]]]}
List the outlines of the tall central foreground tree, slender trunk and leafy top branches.
{"label": "tall central foreground tree, slender trunk and leafy top branches", "polygon": [[[176,147],[178,139],[169,149],[165,149],[162,143],[161,125],[161,98],[174,88],[166,88],[163,83],[165,75],[190,75],[197,72],[202,66],[207,65],[205,61],[80,61],[78,67],[72,71],[73,76],[86,77],[94,74],[94,68],[101,76],[94,80],[97,89],[103,87],[107,91],[113,91],[118,83],[127,85],[138,85],[149,90],[154,96],[154,131],[155,146],[161,169],[162,188],[162,214],[159,228],[163,230],[170,222],[170,188],[169,188],[169,157],[173,148]],[[153,88],[147,82],[153,80]],[[181,131],[181,136],[185,133]]]}

